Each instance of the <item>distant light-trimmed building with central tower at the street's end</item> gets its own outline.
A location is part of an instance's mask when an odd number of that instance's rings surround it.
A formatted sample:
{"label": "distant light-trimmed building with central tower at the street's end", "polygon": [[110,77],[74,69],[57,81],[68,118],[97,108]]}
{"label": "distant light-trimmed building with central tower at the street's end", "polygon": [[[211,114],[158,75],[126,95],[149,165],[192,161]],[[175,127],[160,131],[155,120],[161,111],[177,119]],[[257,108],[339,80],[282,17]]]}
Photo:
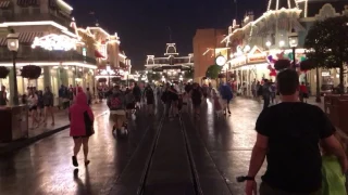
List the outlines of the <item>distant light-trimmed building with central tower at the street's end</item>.
{"label": "distant light-trimmed building with central tower at the street's end", "polygon": [[194,54],[181,56],[175,43],[166,43],[164,56],[148,55],[145,67],[149,73],[160,73],[162,81],[179,81],[185,72],[194,68]]}

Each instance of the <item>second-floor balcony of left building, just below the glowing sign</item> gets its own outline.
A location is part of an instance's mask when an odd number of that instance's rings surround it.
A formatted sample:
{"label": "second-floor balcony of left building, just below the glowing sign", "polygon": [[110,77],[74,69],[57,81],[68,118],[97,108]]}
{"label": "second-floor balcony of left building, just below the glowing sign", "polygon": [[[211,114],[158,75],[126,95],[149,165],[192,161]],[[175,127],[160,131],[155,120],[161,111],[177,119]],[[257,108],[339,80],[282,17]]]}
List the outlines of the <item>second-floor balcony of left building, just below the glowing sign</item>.
{"label": "second-floor balcony of left building, just below the glowing sign", "polygon": [[[0,48],[0,62],[12,62],[12,53],[7,47]],[[17,62],[80,62],[97,65],[95,57],[84,56],[77,51],[48,51],[28,46],[20,48]]]}

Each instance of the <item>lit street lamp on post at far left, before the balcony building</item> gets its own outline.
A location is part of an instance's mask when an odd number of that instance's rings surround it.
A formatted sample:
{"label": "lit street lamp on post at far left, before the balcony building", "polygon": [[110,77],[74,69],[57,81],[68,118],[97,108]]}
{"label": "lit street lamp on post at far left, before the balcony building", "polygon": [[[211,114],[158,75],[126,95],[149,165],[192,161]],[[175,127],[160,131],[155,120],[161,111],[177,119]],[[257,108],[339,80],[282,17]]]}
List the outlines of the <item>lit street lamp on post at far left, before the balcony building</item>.
{"label": "lit street lamp on post at far left, before the balcony building", "polygon": [[15,60],[17,56],[17,51],[20,48],[18,41],[20,34],[15,34],[14,30],[11,30],[11,34],[8,35],[8,48],[12,52],[12,61],[13,61],[13,105],[18,105],[18,88],[17,88],[17,76],[16,76],[16,68],[15,68]]}

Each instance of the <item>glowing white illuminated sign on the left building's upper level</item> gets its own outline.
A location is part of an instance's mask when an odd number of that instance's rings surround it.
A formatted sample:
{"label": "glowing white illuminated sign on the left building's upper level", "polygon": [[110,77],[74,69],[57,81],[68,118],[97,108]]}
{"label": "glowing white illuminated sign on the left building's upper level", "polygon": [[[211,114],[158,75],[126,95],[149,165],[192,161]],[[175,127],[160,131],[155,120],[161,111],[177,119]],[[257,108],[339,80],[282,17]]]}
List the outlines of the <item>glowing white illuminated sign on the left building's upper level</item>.
{"label": "glowing white illuminated sign on the left building's upper level", "polygon": [[65,35],[47,35],[45,37],[36,37],[32,44],[32,48],[35,49],[37,47],[44,48],[45,50],[75,50],[76,49],[77,39],[70,38]]}

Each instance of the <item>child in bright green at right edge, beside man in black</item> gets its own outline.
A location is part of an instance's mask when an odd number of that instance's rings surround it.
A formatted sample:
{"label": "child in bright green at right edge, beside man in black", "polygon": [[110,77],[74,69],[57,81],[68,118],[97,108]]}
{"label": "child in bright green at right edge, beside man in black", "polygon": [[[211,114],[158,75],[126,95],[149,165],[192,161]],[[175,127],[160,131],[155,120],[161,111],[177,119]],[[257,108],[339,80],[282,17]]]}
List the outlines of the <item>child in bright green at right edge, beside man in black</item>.
{"label": "child in bright green at right edge, beside man in black", "polygon": [[[341,144],[343,148],[347,150],[348,136],[343,131],[335,132],[335,136]],[[346,176],[341,171],[340,164],[336,156],[327,152],[322,146],[322,195],[347,195]]]}

